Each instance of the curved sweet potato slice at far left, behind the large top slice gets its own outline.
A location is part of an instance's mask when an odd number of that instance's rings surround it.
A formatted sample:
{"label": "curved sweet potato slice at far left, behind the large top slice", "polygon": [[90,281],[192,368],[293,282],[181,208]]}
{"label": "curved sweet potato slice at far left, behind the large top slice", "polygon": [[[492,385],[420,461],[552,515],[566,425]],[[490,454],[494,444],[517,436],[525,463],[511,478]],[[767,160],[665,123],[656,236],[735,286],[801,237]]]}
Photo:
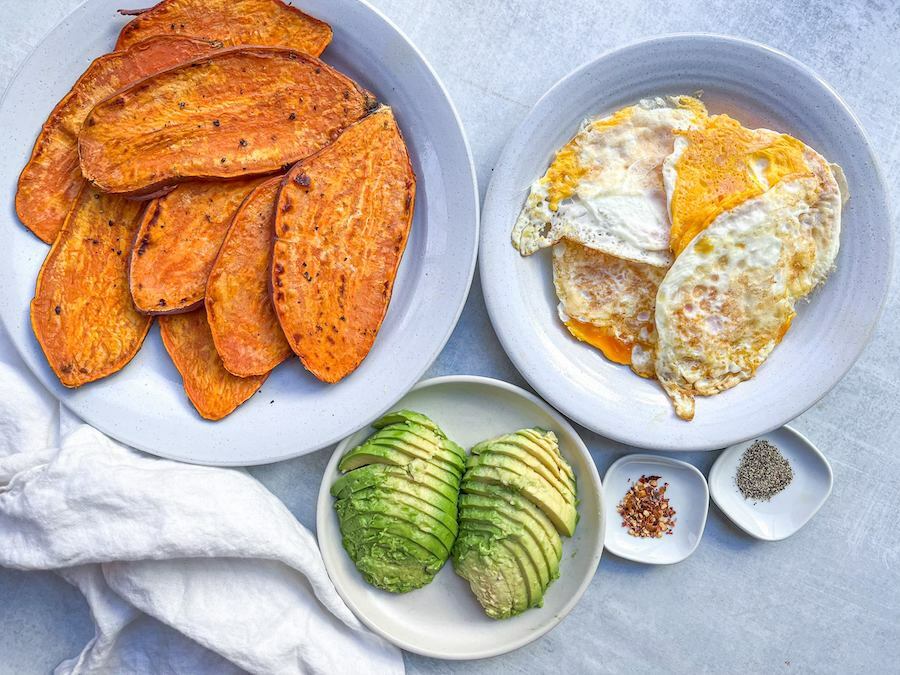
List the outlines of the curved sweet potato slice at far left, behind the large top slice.
{"label": "curved sweet potato slice at far left, behind the large top slice", "polygon": [[78,132],[91,108],[132,82],[221,46],[186,37],[157,37],[94,59],[44,122],[19,176],[16,213],[25,227],[48,244],[56,239],[84,183],[78,166]]}

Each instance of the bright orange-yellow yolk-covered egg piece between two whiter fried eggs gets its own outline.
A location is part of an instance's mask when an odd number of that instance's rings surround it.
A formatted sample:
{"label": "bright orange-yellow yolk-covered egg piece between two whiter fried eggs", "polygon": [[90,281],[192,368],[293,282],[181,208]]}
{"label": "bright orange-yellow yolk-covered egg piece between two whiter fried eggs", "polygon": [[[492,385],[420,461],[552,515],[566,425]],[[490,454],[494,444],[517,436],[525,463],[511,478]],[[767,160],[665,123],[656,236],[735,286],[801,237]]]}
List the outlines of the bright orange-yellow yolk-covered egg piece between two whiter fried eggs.
{"label": "bright orange-yellow yolk-covered egg piece between two whiter fried eggs", "polygon": [[805,146],[785,134],[772,137],[727,115],[701,129],[676,132],[688,141],[675,162],[670,245],[680,254],[719,214],[758,197],[784,178],[809,175]]}

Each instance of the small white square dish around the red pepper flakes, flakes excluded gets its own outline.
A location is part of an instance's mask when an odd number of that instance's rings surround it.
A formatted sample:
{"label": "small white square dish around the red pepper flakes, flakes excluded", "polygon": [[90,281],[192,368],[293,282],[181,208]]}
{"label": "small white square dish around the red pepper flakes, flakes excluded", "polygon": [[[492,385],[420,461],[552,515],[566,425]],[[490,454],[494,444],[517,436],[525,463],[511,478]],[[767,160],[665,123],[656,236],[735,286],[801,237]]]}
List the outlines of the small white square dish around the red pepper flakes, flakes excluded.
{"label": "small white square dish around the red pepper flakes, flakes excluded", "polygon": [[[675,510],[671,534],[661,538],[636,537],[622,525],[617,507],[641,476],[659,476],[660,487],[668,483],[666,497]],[[658,455],[626,455],[607,469],[603,485],[605,543],[610,553],[650,565],[671,565],[681,562],[697,548],[706,527],[709,488],[696,467]]]}

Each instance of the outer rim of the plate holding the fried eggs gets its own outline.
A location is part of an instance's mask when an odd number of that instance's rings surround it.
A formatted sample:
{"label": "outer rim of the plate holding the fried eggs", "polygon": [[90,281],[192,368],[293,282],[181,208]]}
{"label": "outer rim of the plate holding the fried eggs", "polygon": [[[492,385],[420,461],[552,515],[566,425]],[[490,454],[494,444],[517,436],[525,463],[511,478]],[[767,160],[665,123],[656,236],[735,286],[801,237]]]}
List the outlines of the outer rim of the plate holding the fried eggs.
{"label": "outer rim of the plate holding the fried eggs", "polygon": [[[552,406],[563,412],[563,414],[565,414],[573,421],[597,434],[600,434],[601,436],[604,436],[605,438],[609,438],[611,440],[624,443],[632,447],[641,447],[657,452],[710,452],[721,449],[723,444],[710,444],[710,442],[708,441],[704,442],[702,440],[698,440],[691,443],[681,443],[677,447],[673,447],[666,444],[662,440],[635,438],[634,436],[630,436],[627,433],[620,433],[615,426],[597,424],[589,417],[571,412],[569,406],[566,405],[568,397],[565,395],[565,390],[557,390],[549,385],[545,385],[544,380],[546,378],[542,377],[538,372],[534,372],[527,367],[527,362],[523,354],[515,347],[514,341],[509,335],[505,333],[504,329],[502,328],[504,322],[503,307],[501,306],[501,300],[499,297],[501,295],[501,291],[499,289],[495,289],[494,285],[491,282],[491,276],[488,270],[490,270],[493,263],[489,263],[487,265],[484,264],[486,260],[490,260],[492,258],[491,254],[489,253],[490,247],[486,238],[486,232],[491,228],[491,221],[493,220],[493,210],[496,208],[495,202],[502,199],[502,197],[499,197],[497,195],[497,186],[499,183],[499,176],[501,174],[500,171],[497,171],[497,168],[509,163],[509,158],[515,150],[513,142],[521,134],[523,129],[525,129],[532,121],[535,112],[539,108],[545,106],[546,102],[550,100],[551,97],[553,97],[559,90],[566,86],[571,80],[582,76],[585,72],[596,67],[599,63],[605,61],[606,59],[612,58],[614,56],[622,56],[624,54],[627,54],[628,52],[639,52],[659,44],[677,43],[679,41],[685,40],[709,40],[711,42],[718,42],[730,46],[747,48],[758,53],[765,54],[767,57],[781,61],[787,66],[799,71],[804,76],[808,77],[811,81],[814,81],[817,86],[821,87],[838,104],[840,109],[849,117],[850,121],[859,132],[859,135],[863,141],[861,149],[867,153],[869,159],[871,160],[870,162],[868,162],[868,164],[871,167],[873,175],[876,178],[878,191],[881,196],[881,206],[884,208],[885,212],[888,215],[886,228],[887,239],[885,246],[885,249],[888,252],[887,265],[885,270],[887,282],[885,284],[884,293],[878,300],[878,306],[874,313],[873,321],[868,326],[865,338],[861,340],[859,345],[856,347],[855,353],[853,353],[852,358],[849,360],[847,366],[837,374],[837,376],[834,378],[834,381],[824,391],[817,394],[815,398],[802,410],[795,414],[779,414],[777,417],[773,417],[772,422],[763,425],[762,429],[756,430],[750,434],[743,434],[738,439],[731,441],[729,445],[744,442],[752,438],[753,436],[770,433],[775,429],[785,426],[788,422],[795,419],[799,415],[802,415],[804,412],[816,405],[844,379],[850,369],[853,368],[853,366],[859,360],[863,351],[871,343],[872,338],[875,335],[875,331],[878,328],[878,324],[884,315],[887,300],[891,292],[893,269],[895,264],[894,242],[896,240],[896,237],[894,235],[893,228],[893,223],[895,220],[894,209],[892,208],[891,200],[888,199],[889,193],[887,184],[885,183],[881,162],[878,158],[878,154],[875,152],[875,148],[872,145],[872,141],[869,138],[868,132],[860,122],[857,115],[853,112],[853,109],[850,108],[849,105],[847,105],[846,101],[844,101],[841,95],[816,71],[814,71],[810,66],[807,66],[799,59],[762,42],[735,35],[727,35],[715,32],[673,32],[648,38],[640,38],[632,42],[628,42],[624,45],[605,50],[597,57],[589,59],[588,61],[582,63],[581,65],[575,67],[573,70],[563,75],[540,98],[538,98],[538,100],[526,113],[525,117],[519,122],[518,125],[516,125],[515,129],[507,138],[499,157],[494,163],[491,180],[488,184],[487,191],[485,192],[484,203],[482,204],[482,222],[487,222],[488,224],[487,227],[482,227],[481,240],[479,244],[479,259],[481,262],[479,270],[479,280],[481,282],[481,288],[484,294],[485,307],[487,309],[491,325],[494,329],[494,333],[497,335],[497,339],[500,341],[504,352],[516,367],[516,370],[519,372],[519,374],[528,382],[531,387],[534,388],[535,391],[540,394],[540,396],[545,398]],[[511,227],[511,224],[509,225],[509,227]]]}

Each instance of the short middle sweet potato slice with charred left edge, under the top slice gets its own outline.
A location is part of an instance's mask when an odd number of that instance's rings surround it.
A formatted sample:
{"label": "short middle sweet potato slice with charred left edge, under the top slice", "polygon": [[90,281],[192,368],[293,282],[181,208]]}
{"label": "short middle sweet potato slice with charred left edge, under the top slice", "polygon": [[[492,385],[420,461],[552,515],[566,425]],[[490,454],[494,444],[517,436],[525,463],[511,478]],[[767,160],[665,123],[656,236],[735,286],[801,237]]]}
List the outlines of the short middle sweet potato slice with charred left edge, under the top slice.
{"label": "short middle sweet potato slice with charred left edge, under the top slice", "polygon": [[177,314],[203,302],[231,219],[262,180],[183,183],[147,205],[128,270],[139,311]]}

